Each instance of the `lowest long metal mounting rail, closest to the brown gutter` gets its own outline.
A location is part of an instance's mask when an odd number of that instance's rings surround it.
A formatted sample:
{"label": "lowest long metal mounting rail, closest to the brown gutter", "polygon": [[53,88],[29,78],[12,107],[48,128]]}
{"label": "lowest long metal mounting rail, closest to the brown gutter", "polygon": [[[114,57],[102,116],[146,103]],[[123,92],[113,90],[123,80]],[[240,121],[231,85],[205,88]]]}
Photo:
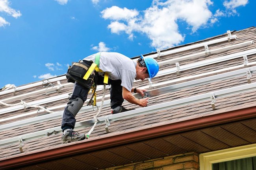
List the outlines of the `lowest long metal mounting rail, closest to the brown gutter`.
{"label": "lowest long metal mounting rail, closest to the brown gutter", "polygon": [[[135,117],[137,115],[144,115],[144,114],[154,113],[161,110],[167,110],[170,108],[184,106],[184,105],[192,104],[196,102],[208,101],[208,100],[211,100],[212,97],[214,97],[214,99],[216,100],[220,97],[226,97],[229,95],[234,95],[237,93],[243,93],[243,92],[252,91],[252,90],[256,90],[256,83],[245,84],[245,85],[241,85],[233,88],[205,93],[202,95],[196,95],[196,96],[191,96],[184,99],[178,99],[170,102],[156,104],[156,105],[148,106],[145,108],[139,108],[139,109],[131,110],[127,112],[98,117],[97,119],[99,124],[102,124],[107,121],[109,125],[110,122],[127,119],[130,117]],[[75,128],[92,126],[93,124],[94,124],[94,119],[85,120],[85,121],[77,122]],[[36,139],[39,137],[45,137],[47,133],[50,133],[52,131],[56,131],[57,133],[62,132],[61,128],[58,126],[58,127],[54,127],[46,130],[41,130],[39,132],[29,133],[29,134],[20,135],[17,137],[12,137],[9,139],[0,140],[0,146],[18,143],[19,140],[28,141],[28,140]]]}

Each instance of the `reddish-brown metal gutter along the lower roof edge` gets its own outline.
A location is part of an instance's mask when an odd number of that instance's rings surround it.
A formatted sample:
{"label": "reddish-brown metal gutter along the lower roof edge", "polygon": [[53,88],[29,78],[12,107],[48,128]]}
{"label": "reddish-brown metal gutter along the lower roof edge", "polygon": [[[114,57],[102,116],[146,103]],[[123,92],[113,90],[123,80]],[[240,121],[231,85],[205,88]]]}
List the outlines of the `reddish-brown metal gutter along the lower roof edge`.
{"label": "reddish-brown metal gutter along the lower roof edge", "polygon": [[245,119],[256,118],[256,106],[241,108],[218,114],[203,115],[195,119],[187,119],[180,122],[172,122],[145,128],[143,130],[120,133],[110,137],[102,137],[98,139],[88,140],[86,142],[79,141],[75,144],[66,144],[51,150],[33,152],[29,154],[0,159],[1,169],[15,168],[23,165],[31,165],[43,162],[45,160],[67,157],[71,155],[83,154],[85,152],[93,152],[102,148],[109,148],[139,142],[142,140],[153,139],[164,135],[196,130],[208,126],[216,126],[234,121],[242,121]]}

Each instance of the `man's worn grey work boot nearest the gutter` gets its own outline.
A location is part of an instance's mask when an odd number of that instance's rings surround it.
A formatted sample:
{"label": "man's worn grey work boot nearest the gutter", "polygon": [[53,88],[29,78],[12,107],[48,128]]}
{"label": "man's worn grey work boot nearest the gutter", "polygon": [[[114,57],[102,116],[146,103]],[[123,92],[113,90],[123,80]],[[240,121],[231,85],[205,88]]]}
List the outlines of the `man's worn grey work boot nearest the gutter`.
{"label": "man's worn grey work boot nearest the gutter", "polygon": [[67,133],[62,135],[61,143],[64,144],[64,143],[69,143],[74,141],[80,141],[83,139],[85,139],[84,133],[82,135],[79,135],[78,132],[70,129],[70,130],[67,130]]}

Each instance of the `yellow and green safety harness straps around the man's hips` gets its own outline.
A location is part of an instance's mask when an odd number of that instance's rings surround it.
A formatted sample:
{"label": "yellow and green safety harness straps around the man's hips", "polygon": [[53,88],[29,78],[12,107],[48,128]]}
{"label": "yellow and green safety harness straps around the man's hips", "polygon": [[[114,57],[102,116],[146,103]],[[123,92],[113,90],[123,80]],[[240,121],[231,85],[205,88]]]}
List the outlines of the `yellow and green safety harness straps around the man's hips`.
{"label": "yellow and green safety harness straps around the man's hips", "polygon": [[[93,73],[94,70],[97,72],[103,72],[100,68],[98,68],[99,61],[100,61],[100,53],[97,53],[96,57],[95,57],[95,62],[98,62],[98,63],[93,63],[90,66],[90,68],[87,70],[87,72],[83,76],[83,79],[87,80],[89,78],[89,76]],[[108,73],[106,73],[106,72],[104,73],[103,82],[108,84]]]}

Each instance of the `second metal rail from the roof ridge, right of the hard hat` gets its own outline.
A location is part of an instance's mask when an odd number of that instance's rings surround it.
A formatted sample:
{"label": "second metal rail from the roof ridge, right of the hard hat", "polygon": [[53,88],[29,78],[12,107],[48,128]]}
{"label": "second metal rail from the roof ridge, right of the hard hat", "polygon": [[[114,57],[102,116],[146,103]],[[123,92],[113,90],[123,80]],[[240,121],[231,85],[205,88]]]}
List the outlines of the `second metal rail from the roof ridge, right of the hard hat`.
{"label": "second metal rail from the roof ridge, right of the hard hat", "polygon": [[163,65],[166,65],[166,64],[175,64],[176,62],[180,62],[180,61],[184,61],[184,60],[188,60],[188,59],[193,59],[193,58],[197,58],[197,57],[208,56],[210,54],[220,53],[220,52],[227,51],[227,50],[230,50],[230,49],[241,48],[241,47],[249,46],[249,45],[252,45],[252,44],[253,44],[253,41],[242,42],[242,43],[239,43],[239,44],[234,44],[234,45],[226,46],[226,47],[223,47],[223,48],[212,49],[212,50],[208,50],[208,51],[206,50],[206,51],[203,51],[203,52],[200,52],[200,53],[195,53],[195,54],[186,55],[186,56],[179,57],[179,58],[173,58],[173,59],[170,59],[170,60],[165,60],[165,61],[162,61],[162,62],[158,62],[158,64],[159,64],[159,66],[163,66]]}

